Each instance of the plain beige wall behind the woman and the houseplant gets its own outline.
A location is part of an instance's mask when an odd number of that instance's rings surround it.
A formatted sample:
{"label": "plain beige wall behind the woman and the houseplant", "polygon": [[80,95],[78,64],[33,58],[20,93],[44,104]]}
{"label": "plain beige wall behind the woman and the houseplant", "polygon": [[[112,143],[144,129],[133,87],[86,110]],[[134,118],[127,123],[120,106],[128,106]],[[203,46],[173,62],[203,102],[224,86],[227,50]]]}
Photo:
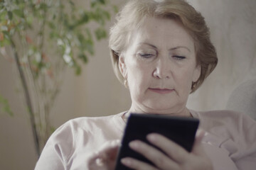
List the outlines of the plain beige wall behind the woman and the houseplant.
{"label": "plain beige wall behind the woman and the houseplant", "polygon": [[[121,5],[124,0],[112,0]],[[223,109],[238,84],[256,78],[256,1],[191,0],[206,17],[219,64],[188,101],[198,111]],[[112,23],[109,24],[109,26]],[[109,27],[108,26],[108,27]],[[107,40],[99,42],[95,57],[75,77],[67,69],[65,81],[53,108],[56,128],[71,118],[112,115],[129,109],[127,89],[114,77]],[[33,169],[36,152],[16,69],[0,57],[0,93],[9,99],[14,118],[0,113],[0,169]]]}

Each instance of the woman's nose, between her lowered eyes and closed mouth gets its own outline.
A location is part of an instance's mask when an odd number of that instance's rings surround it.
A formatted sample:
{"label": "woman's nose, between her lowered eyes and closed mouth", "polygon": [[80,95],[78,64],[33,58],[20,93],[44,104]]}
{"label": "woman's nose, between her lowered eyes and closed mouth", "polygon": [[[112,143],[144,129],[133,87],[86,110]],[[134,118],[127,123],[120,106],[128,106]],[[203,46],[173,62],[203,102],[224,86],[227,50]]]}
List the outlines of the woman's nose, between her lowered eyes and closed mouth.
{"label": "woman's nose, between her lowered eyes and closed mouth", "polygon": [[171,66],[169,61],[159,59],[156,62],[156,68],[154,69],[153,76],[156,79],[169,79],[171,77]]}

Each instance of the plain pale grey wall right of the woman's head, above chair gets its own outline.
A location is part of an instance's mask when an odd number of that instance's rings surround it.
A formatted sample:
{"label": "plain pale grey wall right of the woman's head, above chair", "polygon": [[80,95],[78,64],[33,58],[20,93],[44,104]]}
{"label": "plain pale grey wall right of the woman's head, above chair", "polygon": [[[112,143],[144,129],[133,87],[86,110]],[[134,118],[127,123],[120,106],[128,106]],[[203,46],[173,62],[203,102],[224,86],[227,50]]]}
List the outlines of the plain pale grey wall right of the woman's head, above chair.
{"label": "plain pale grey wall right of the woman's head, above chair", "polygon": [[236,86],[256,79],[256,1],[190,2],[206,18],[219,63],[191,95],[188,107],[201,111],[223,109]]}

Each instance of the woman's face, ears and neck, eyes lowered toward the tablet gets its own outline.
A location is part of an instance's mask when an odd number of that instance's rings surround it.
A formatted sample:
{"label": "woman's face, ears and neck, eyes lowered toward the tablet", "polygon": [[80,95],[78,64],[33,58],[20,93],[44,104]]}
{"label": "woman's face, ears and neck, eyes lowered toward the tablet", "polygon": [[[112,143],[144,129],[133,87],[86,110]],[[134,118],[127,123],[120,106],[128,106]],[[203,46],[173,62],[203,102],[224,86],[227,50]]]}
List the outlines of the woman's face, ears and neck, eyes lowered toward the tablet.
{"label": "woman's face, ears and neck, eyes lowered toward the tablet", "polygon": [[182,114],[201,67],[196,65],[193,39],[175,20],[146,18],[132,33],[119,68],[128,81],[130,111]]}

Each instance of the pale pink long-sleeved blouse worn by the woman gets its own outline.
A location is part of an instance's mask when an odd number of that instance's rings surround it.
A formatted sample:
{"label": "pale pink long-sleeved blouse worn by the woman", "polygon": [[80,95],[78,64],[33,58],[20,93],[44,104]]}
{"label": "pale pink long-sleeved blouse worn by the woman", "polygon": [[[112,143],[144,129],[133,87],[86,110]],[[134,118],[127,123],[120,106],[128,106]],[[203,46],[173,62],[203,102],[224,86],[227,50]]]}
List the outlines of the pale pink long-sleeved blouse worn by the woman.
{"label": "pale pink long-sleeved blouse worn by the woman", "polygon": [[[49,138],[36,170],[88,169],[87,157],[104,142],[121,139],[122,115],[76,118],[60,126]],[[191,111],[206,131],[203,147],[215,170],[256,169],[256,122],[234,111]]]}

